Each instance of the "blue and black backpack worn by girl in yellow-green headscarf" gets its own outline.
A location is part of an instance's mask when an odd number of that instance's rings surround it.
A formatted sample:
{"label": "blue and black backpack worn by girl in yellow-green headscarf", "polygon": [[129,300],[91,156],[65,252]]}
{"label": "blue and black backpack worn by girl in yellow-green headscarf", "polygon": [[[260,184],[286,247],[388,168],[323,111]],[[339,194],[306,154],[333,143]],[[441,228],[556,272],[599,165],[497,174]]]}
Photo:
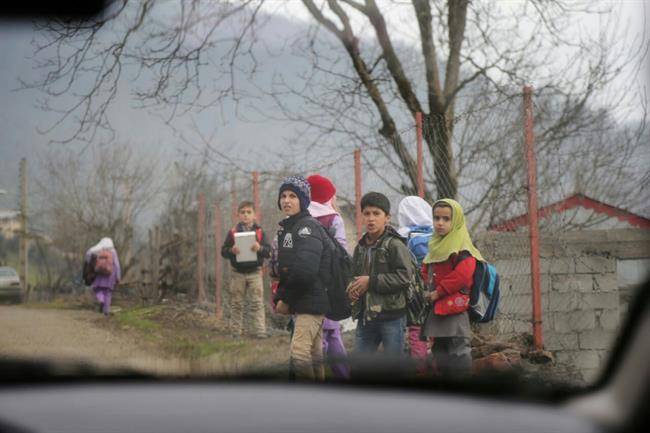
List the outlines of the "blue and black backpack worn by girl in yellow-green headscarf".
{"label": "blue and black backpack worn by girl in yellow-green headscarf", "polygon": [[[463,251],[460,260],[470,257]],[[469,320],[476,323],[486,323],[494,319],[499,308],[499,274],[497,268],[486,262],[476,261],[474,284],[469,293]]]}

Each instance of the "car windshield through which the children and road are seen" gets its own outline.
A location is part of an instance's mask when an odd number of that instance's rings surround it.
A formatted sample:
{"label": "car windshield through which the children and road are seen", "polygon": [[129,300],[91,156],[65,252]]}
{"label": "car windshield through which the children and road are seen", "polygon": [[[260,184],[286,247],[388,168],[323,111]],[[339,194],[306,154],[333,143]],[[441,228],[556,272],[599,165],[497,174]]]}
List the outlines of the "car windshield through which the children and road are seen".
{"label": "car windshield through which the children and road are seen", "polygon": [[648,278],[644,6],[545,6],[0,21],[0,355],[593,384]]}

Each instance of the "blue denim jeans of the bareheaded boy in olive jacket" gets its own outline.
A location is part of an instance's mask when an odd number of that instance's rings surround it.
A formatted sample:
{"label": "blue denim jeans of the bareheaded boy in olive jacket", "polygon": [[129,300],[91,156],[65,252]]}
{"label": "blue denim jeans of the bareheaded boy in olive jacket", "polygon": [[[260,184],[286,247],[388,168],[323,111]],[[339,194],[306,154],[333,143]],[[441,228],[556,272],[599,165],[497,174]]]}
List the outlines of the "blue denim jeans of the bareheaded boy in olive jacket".
{"label": "blue denim jeans of the bareheaded boy in olive jacket", "polygon": [[406,317],[394,320],[372,320],[357,323],[355,348],[359,353],[374,353],[379,343],[384,346],[384,353],[400,356],[404,350],[404,329]]}

